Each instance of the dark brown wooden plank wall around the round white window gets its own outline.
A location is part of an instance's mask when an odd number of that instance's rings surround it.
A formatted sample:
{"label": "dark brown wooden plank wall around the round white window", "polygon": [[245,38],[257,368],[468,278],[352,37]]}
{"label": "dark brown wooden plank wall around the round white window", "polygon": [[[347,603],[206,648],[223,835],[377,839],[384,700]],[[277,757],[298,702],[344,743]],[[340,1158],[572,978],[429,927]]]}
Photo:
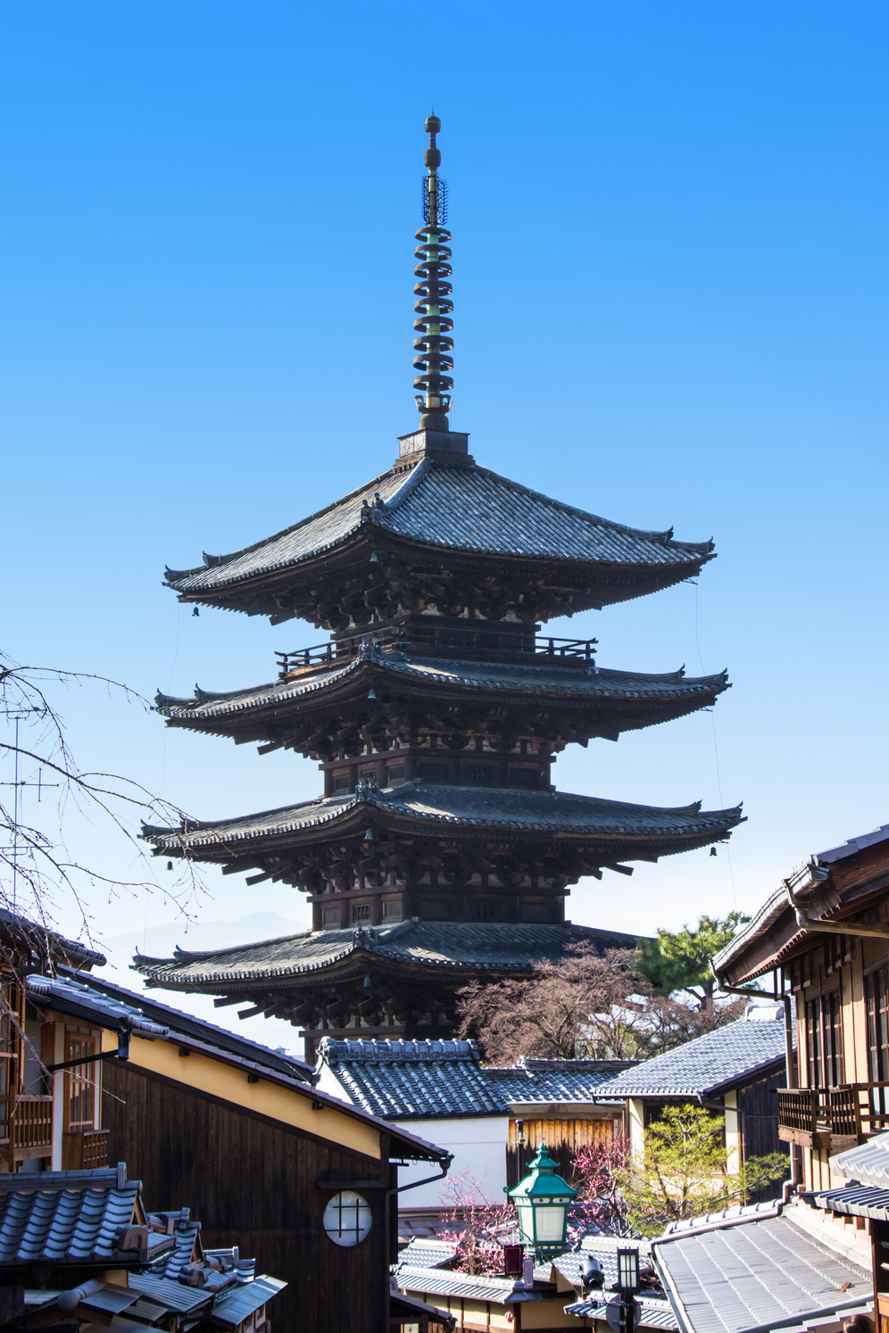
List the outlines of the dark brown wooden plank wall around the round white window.
{"label": "dark brown wooden plank wall around the round white window", "polygon": [[143,1181],[148,1209],[191,1208],[205,1246],[239,1245],[257,1273],[289,1284],[269,1308],[276,1333],[388,1333],[385,1190],[364,1192],[373,1226],[344,1249],[324,1233],[332,1190],[316,1180],[383,1178],[395,1168],[115,1061],[104,1085],[111,1161]]}

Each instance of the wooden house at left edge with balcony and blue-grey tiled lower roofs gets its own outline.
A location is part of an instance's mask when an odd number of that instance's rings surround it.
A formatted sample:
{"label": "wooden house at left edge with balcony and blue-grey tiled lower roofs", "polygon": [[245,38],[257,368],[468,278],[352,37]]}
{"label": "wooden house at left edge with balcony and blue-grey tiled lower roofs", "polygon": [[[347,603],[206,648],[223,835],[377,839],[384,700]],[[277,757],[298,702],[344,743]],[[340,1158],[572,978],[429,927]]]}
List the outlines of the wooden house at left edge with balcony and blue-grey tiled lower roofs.
{"label": "wooden house at left edge with balcony and blue-grey tiled lower roofs", "polygon": [[[137,997],[85,986],[104,961],[0,913],[0,1328],[177,1333],[188,1313],[196,1333],[271,1333],[268,1302],[285,1284],[257,1277],[252,1260],[204,1250],[200,1224],[183,1222],[181,1196],[175,1213],[147,1212],[141,1182],[109,1154],[103,1085],[133,1045],[167,1040],[169,1029],[128,1002]],[[81,982],[60,982],[72,969]],[[180,1194],[180,1181],[169,1184],[163,1202]]]}

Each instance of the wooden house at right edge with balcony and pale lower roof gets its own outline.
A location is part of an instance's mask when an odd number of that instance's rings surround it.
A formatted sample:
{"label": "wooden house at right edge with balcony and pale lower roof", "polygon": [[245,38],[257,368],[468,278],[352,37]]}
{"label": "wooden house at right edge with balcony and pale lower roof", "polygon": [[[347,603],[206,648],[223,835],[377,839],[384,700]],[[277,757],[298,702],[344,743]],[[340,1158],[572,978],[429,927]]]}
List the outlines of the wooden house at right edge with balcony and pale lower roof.
{"label": "wooden house at right edge with balcony and pale lower roof", "polygon": [[[682,1244],[676,1233],[656,1245],[692,1333],[713,1326],[708,1318],[738,1274],[756,1310],[734,1312],[724,1325],[734,1333],[780,1326],[793,1313],[804,1326],[808,1318],[838,1329],[862,1297],[870,1306],[874,1288],[880,1333],[889,1330],[888,952],[884,825],[809,857],[714,958],[721,986],[770,982],[794,1010],[798,1076],[776,1094],[792,1180],[774,1220],[745,1218],[730,1236],[710,1226]],[[693,1277],[701,1265],[717,1274],[712,1289]],[[788,1276],[798,1288],[792,1302]]]}

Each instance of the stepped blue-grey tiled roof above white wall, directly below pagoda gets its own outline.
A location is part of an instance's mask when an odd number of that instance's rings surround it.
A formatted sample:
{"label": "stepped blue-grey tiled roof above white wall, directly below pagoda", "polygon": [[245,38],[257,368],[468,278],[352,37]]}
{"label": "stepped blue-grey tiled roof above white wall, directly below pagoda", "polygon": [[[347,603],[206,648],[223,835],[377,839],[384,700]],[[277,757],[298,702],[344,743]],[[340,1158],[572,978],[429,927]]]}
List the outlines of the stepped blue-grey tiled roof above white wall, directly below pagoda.
{"label": "stepped blue-grey tiled roof above white wall, directly below pagoda", "polygon": [[395,1120],[504,1116],[513,1102],[588,1105],[593,1089],[625,1068],[620,1061],[521,1060],[509,1069],[488,1069],[474,1041],[332,1037],[321,1038],[319,1061],[349,1101]]}

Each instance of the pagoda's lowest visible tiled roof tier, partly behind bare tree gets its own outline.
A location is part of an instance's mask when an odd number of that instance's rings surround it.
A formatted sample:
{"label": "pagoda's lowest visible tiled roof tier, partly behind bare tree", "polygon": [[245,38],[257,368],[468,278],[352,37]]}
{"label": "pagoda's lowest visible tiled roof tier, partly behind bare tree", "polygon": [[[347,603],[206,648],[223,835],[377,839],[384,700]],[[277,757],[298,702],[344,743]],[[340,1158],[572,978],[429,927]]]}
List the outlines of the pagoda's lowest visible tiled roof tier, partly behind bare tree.
{"label": "pagoda's lowest visible tiled roof tier, partly behind bare tree", "polygon": [[312,930],[279,940],[215,949],[177,949],[172,958],[136,954],[135,968],[153,985],[183,986],[275,980],[312,974],[351,954],[373,954],[437,970],[498,972],[530,968],[558,958],[568,944],[589,941],[600,949],[628,948],[634,936],[577,925],[509,925],[449,921],[404,921],[395,926]]}

